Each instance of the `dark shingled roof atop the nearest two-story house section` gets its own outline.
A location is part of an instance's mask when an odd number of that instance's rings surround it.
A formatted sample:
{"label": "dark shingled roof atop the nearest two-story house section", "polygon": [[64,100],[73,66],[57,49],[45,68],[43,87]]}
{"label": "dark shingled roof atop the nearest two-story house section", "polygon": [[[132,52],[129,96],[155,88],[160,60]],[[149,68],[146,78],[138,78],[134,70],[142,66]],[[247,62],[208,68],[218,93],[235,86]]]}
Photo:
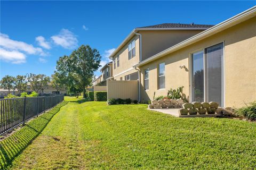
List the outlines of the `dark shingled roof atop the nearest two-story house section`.
{"label": "dark shingled roof atop the nearest two-story house section", "polygon": [[146,27],[138,28],[211,28],[214,25],[205,25],[205,24],[186,24],[186,23],[162,23],[157,25],[149,25]]}

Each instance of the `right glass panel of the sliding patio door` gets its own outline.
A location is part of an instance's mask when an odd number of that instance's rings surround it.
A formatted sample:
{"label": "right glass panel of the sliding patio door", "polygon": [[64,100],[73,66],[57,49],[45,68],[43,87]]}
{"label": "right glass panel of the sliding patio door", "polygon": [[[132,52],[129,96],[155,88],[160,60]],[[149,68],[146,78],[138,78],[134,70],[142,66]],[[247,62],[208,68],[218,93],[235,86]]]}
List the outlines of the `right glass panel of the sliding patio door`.
{"label": "right glass panel of the sliding patio door", "polygon": [[206,101],[223,106],[223,44],[205,49]]}

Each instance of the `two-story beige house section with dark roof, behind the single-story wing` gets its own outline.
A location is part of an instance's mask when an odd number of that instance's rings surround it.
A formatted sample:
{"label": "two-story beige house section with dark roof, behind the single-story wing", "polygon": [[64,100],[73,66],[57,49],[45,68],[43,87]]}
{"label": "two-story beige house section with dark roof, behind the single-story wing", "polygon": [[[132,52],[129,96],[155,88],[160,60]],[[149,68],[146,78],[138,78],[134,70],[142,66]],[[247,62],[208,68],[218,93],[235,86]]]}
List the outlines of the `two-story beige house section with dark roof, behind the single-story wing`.
{"label": "two-story beige house section with dark roof, behind the single-story wing", "polygon": [[113,59],[113,79],[139,80],[138,69],[133,67],[135,64],[212,26],[164,23],[135,28],[110,55]]}

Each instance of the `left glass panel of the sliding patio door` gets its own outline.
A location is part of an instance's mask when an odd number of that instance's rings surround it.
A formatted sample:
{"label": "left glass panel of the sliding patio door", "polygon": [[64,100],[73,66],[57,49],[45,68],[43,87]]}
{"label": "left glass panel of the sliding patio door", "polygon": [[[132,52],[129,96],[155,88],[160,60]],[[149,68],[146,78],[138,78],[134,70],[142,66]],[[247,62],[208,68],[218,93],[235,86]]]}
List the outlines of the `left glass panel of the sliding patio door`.
{"label": "left glass panel of the sliding patio door", "polygon": [[192,54],[192,98],[204,101],[204,52]]}

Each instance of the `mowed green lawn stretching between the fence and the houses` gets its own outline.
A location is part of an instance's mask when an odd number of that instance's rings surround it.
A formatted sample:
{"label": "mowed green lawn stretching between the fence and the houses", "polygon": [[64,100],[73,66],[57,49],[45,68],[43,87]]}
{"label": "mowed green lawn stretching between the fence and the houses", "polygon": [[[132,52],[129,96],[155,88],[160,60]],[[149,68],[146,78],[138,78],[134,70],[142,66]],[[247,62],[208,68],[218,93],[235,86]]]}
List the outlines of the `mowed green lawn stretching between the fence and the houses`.
{"label": "mowed green lawn stretching between the fence and the houses", "polygon": [[[14,153],[1,161],[2,168],[256,169],[256,123],[176,118],[148,111],[147,105],[66,100],[21,151],[15,139],[17,146],[9,145],[8,138],[0,143],[1,158]],[[20,131],[14,135],[24,133],[26,140],[30,133]]]}

